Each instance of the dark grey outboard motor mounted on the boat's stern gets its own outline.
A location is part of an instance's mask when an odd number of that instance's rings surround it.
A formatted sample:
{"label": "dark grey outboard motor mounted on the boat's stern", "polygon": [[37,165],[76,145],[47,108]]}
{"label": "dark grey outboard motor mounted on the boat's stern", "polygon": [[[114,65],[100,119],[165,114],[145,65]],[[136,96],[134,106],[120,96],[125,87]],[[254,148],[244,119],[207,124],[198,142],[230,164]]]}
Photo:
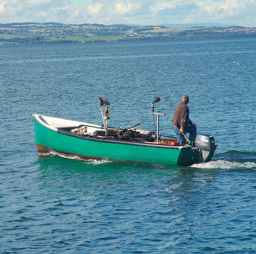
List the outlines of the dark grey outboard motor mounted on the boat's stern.
{"label": "dark grey outboard motor mounted on the boat's stern", "polygon": [[200,162],[205,163],[211,160],[216,149],[214,137],[209,134],[197,134],[195,146],[198,148]]}

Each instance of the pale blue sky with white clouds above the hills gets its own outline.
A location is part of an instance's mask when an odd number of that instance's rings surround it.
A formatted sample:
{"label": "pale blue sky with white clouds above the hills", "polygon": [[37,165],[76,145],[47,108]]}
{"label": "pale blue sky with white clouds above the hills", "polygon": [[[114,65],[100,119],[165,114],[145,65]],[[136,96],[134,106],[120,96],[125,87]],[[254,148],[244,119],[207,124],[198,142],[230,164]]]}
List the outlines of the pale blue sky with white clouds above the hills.
{"label": "pale blue sky with white clouds above the hills", "polygon": [[256,27],[256,0],[0,0],[0,23],[12,22]]}

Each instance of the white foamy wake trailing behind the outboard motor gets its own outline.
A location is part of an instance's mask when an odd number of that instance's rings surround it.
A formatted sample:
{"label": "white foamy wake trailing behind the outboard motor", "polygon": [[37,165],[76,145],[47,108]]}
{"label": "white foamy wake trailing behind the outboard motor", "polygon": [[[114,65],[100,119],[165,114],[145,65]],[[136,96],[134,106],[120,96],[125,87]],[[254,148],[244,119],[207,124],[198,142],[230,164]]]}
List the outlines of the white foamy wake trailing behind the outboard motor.
{"label": "white foamy wake trailing behind the outboard motor", "polygon": [[222,169],[230,169],[230,168],[253,168],[256,169],[256,163],[253,162],[230,162],[226,160],[215,160],[209,161],[207,163],[199,163],[193,164],[192,168],[222,168]]}

